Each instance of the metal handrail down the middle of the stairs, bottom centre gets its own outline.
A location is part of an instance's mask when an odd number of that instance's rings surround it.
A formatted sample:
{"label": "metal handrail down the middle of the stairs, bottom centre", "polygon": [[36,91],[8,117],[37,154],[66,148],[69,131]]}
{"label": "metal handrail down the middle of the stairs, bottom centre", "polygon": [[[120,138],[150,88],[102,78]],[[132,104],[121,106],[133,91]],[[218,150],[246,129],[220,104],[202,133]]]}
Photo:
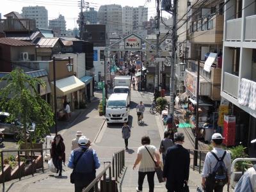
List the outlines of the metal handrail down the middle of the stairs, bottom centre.
{"label": "metal handrail down the middle of the stairs, bottom centre", "polygon": [[[115,192],[116,187],[111,184],[111,178],[115,178],[115,182],[120,178],[120,174],[125,167],[125,152],[124,150],[120,150],[113,154],[112,162],[104,162],[109,163],[108,166],[100,172],[97,177],[86,187],[83,189],[83,192],[89,192],[91,189],[94,189],[95,192],[99,191],[111,191]],[[108,172],[108,178],[107,178]],[[102,179],[103,177],[103,179]],[[99,189],[99,182],[102,179],[102,188]],[[107,184],[108,183],[108,184]],[[114,189],[113,189],[114,188]]]}

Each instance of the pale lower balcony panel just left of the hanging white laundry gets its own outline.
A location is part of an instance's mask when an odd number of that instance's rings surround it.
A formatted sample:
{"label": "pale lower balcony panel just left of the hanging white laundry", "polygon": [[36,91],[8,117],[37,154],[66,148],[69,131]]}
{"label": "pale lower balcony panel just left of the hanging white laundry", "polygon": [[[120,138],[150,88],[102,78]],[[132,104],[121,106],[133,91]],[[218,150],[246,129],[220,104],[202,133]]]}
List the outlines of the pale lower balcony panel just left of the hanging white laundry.
{"label": "pale lower balcony panel just left of the hanging white laundry", "polygon": [[224,86],[223,91],[238,98],[238,81],[239,77],[234,76],[228,72],[224,73]]}

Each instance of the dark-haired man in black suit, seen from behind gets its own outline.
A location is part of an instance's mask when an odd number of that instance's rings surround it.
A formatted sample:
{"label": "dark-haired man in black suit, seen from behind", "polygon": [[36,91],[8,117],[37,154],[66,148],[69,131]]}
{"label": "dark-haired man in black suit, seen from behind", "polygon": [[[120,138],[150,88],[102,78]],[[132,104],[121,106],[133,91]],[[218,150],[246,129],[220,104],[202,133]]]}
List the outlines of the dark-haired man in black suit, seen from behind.
{"label": "dark-haired man in black suit, seen from behind", "polygon": [[166,179],[168,192],[181,192],[189,177],[189,152],[182,147],[184,134],[174,134],[175,145],[169,147],[165,156],[163,177]]}

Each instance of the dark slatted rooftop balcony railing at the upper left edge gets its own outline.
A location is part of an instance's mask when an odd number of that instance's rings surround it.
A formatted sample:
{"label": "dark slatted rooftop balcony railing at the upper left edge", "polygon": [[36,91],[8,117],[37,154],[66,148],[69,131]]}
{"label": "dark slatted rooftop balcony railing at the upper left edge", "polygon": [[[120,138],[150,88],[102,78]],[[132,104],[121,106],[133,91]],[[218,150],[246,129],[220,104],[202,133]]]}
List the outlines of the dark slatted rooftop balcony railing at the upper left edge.
{"label": "dark slatted rooftop balcony railing at the upper left edge", "polygon": [[0,31],[35,31],[36,21],[33,19],[0,19]]}

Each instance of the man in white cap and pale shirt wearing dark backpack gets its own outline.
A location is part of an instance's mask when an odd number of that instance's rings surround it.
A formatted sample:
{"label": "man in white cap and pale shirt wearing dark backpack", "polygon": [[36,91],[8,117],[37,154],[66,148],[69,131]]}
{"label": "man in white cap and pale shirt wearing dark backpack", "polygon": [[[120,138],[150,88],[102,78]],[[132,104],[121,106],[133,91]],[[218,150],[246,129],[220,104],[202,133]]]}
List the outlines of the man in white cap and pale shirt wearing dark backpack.
{"label": "man in white cap and pale shirt wearing dark backpack", "polygon": [[205,192],[222,192],[225,184],[230,184],[231,157],[221,147],[223,139],[225,138],[220,133],[212,134],[213,149],[205,156],[202,172],[202,186]]}

